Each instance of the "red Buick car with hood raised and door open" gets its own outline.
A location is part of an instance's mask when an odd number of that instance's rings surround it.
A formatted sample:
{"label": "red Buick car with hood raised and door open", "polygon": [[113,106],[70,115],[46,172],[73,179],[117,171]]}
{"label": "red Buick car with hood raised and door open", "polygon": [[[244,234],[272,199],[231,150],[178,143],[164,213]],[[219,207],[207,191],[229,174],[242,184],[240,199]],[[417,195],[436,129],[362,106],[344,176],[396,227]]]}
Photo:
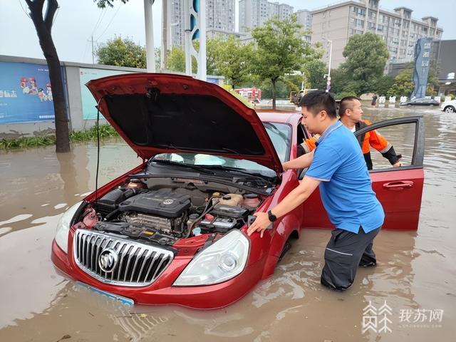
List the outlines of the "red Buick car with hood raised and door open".
{"label": "red Buick car with hood raised and door open", "polygon": [[[309,136],[299,113],[257,114],[187,76],[111,76],[88,88],[143,161],[61,217],[52,260],[73,279],[123,301],[215,309],[271,276],[301,228],[332,227],[314,193],[263,238],[246,234],[252,214],[274,207],[305,173],[281,167]],[[363,131],[398,124],[415,125],[411,165],[372,172],[373,188],[384,229],[417,229],[423,118]]]}

